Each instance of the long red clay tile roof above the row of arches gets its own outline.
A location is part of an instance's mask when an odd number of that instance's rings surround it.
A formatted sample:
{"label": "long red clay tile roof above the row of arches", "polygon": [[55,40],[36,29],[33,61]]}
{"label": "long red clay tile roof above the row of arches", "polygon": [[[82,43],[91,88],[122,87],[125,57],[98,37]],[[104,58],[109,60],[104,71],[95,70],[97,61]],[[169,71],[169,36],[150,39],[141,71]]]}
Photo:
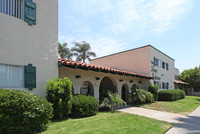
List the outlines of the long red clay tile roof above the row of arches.
{"label": "long red clay tile roof above the row of arches", "polygon": [[58,64],[68,66],[68,67],[80,68],[80,69],[84,69],[84,70],[101,71],[101,72],[106,72],[106,73],[110,72],[113,74],[153,79],[153,77],[151,77],[149,75],[143,75],[143,74],[138,74],[138,73],[134,73],[134,72],[128,72],[128,71],[123,71],[123,70],[113,69],[113,68],[103,67],[103,66],[96,66],[96,65],[91,65],[88,63],[76,62],[76,61],[60,59],[60,58],[58,59]]}

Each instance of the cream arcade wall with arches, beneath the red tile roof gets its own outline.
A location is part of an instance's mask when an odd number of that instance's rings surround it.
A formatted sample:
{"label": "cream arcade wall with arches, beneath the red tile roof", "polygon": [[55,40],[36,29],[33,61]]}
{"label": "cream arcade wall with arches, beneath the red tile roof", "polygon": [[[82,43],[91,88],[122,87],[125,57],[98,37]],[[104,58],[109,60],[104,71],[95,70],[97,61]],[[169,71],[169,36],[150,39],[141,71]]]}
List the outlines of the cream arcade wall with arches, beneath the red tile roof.
{"label": "cream arcade wall with arches, beneath the red tile roof", "polygon": [[[81,75],[81,78],[76,78],[76,75]],[[133,84],[136,84],[140,86],[141,88],[147,90],[150,85],[149,79],[142,79],[142,78],[135,78],[132,76],[122,76],[122,75],[116,75],[111,73],[103,73],[103,72],[95,72],[95,71],[87,71],[82,69],[73,69],[69,67],[59,67],[59,77],[69,77],[69,79],[73,83],[74,92],[80,94],[80,87],[81,84],[84,81],[90,81],[93,84],[94,87],[94,97],[96,99],[99,99],[99,86],[101,83],[101,80],[104,77],[112,78],[115,83],[117,84],[117,93],[121,96],[121,89],[123,84],[127,84],[129,89],[131,89]],[[96,77],[100,77],[100,80],[96,80]],[[119,82],[119,79],[122,79],[123,82]],[[130,83],[130,80],[133,80],[133,83]],[[138,83],[141,81],[142,83]]]}

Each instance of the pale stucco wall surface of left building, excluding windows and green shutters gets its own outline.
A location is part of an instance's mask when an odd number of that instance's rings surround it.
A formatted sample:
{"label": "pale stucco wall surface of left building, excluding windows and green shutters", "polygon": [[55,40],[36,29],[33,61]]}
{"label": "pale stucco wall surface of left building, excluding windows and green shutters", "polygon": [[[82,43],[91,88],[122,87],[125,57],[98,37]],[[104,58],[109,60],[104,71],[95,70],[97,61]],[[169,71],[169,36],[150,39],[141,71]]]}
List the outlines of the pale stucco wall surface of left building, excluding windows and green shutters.
{"label": "pale stucco wall surface of left building, excluding windows and green shutters", "polygon": [[58,75],[58,1],[33,2],[37,6],[33,26],[0,12],[0,63],[36,66],[37,88],[28,92],[45,96],[46,81]]}

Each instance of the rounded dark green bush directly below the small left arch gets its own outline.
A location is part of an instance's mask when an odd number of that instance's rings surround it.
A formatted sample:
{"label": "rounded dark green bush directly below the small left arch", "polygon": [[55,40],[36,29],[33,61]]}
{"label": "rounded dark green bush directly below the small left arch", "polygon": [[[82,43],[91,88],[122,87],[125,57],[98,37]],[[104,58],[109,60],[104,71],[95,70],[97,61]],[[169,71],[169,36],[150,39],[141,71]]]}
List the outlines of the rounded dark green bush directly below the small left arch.
{"label": "rounded dark green bush directly below the small left arch", "polygon": [[92,96],[76,95],[72,101],[73,118],[95,115],[98,112],[99,102]]}

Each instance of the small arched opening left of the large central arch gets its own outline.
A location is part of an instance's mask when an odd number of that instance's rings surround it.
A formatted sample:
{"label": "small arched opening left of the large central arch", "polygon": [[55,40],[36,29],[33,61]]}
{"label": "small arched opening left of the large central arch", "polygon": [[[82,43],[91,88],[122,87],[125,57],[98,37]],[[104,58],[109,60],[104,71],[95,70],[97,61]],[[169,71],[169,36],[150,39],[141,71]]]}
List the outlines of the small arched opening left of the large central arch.
{"label": "small arched opening left of the large central arch", "polygon": [[90,81],[84,81],[82,83],[80,94],[94,96],[94,87]]}

